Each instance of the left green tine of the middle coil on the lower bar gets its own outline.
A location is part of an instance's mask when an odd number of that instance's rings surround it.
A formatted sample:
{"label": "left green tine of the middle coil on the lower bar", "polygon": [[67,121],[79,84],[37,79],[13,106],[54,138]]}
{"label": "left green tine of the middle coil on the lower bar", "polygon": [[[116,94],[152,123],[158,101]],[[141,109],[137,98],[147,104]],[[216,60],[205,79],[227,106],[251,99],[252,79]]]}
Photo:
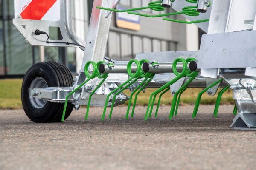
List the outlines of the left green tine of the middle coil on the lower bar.
{"label": "left green tine of the middle coil on the lower bar", "polygon": [[[135,74],[131,73],[131,65],[132,63],[135,62],[135,64],[137,65],[137,71]],[[128,62],[128,65],[127,65],[127,72],[129,74],[129,76],[131,77],[130,79],[128,79],[127,81],[125,81],[122,85],[126,85],[128,82],[130,82],[131,80],[133,80],[134,78],[138,77],[141,73],[141,65],[140,65],[140,62],[136,59],[132,59],[131,61]],[[114,89],[113,91],[111,91],[111,93],[108,94],[107,96],[107,99],[105,101],[105,106],[104,106],[104,110],[103,110],[103,113],[102,113],[102,121],[105,119],[105,114],[106,114],[106,110],[107,110],[107,107],[108,107],[108,100],[109,100],[109,97],[116,93],[116,91],[118,91],[120,88],[122,88],[122,85],[120,85],[119,87],[117,87],[116,89]]]}

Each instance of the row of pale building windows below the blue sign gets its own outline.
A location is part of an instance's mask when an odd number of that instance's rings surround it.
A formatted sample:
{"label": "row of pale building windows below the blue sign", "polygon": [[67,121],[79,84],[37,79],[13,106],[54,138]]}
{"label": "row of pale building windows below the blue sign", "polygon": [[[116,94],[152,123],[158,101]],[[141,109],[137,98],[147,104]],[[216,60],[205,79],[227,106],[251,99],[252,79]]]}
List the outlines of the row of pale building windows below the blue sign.
{"label": "row of pale building windows below the blue sign", "polygon": [[106,57],[114,60],[127,61],[134,59],[136,54],[176,51],[177,42],[144,37],[143,35],[125,34],[110,31],[106,50]]}

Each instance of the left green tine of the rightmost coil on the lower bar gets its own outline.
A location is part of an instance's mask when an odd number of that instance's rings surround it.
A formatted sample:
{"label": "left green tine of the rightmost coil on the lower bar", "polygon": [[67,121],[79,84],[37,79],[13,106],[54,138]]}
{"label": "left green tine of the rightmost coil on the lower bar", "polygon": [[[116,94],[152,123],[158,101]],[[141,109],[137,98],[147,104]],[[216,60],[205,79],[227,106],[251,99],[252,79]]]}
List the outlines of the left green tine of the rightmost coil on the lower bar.
{"label": "left green tine of the rightmost coil on the lower bar", "polygon": [[[183,71],[181,73],[177,72],[177,63],[178,62],[182,62],[183,63]],[[170,82],[166,83],[165,85],[163,85],[161,88],[157,89],[156,91],[154,91],[150,97],[149,97],[149,101],[148,101],[148,107],[147,107],[147,111],[145,113],[145,117],[144,119],[147,120],[148,119],[148,112],[149,112],[149,108],[152,105],[152,98],[154,95],[159,94],[161,91],[165,90],[166,88],[168,88],[170,85],[172,85],[173,83],[177,82],[179,79],[181,79],[182,77],[184,77],[186,75],[186,71],[187,71],[187,62],[185,59],[183,58],[177,58],[175,59],[175,61],[173,62],[173,72],[175,73],[175,75],[177,77],[175,77],[174,79],[172,79]],[[154,105],[154,103],[153,103]]]}

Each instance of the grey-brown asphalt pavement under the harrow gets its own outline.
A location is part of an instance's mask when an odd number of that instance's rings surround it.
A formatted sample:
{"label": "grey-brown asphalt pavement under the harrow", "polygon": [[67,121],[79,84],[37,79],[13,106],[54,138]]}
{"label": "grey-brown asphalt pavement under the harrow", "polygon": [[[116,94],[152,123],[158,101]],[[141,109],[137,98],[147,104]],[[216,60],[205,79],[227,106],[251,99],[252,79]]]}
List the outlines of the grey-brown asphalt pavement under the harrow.
{"label": "grey-brown asphalt pavement under the harrow", "polygon": [[[73,111],[62,123],[31,122],[23,110],[0,111],[0,170],[255,170],[256,131],[233,130],[232,105],[170,106],[145,122],[145,107],[125,120],[126,107],[100,120],[102,108]],[[106,117],[107,118],[107,117]]]}

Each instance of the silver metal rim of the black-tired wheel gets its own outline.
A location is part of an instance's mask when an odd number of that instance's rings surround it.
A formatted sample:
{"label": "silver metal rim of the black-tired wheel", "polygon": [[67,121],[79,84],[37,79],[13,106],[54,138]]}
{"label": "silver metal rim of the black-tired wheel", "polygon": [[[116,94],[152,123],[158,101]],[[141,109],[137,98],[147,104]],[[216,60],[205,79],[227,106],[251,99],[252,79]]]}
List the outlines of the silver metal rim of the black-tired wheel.
{"label": "silver metal rim of the black-tired wheel", "polygon": [[43,99],[37,99],[32,96],[31,91],[34,88],[47,88],[47,82],[42,77],[36,77],[30,84],[29,87],[29,99],[34,108],[41,109],[44,107],[47,101]]}

